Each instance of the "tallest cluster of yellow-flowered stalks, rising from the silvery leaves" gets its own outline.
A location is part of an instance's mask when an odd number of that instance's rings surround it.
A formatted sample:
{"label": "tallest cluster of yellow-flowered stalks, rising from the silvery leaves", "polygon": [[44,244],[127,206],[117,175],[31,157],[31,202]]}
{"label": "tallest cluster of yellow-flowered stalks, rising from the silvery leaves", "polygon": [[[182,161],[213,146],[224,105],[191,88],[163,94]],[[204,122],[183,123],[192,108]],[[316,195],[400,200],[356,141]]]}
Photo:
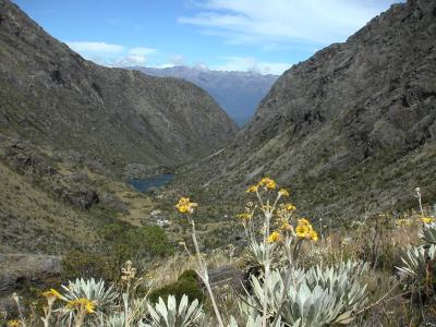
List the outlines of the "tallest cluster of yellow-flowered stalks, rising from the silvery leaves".
{"label": "tallest cluster of yellow-flowered stalks, rising from the silvery leaves", "polygon": [[[257,204],[249,203],[245,211],[238,217],[242,220],[250,240],[249,253],[254,254],[252,257],[259,261],[259,266],[264,268],[261,279],[255,276],[252,278],[252,287],[257,294],[256,299],[262,299],[262,301],[257,301],[257,304],[262,306],[262,326],[266,327],[269,323],[271,326],[276,326],[281,319],[288,294],[284,291],[279,295],[278,293],[268,293],[268,284],[271,283],[272,276],[277,277],[279,274],[279,270],[271,272],[272,263],[280,262],[277,259],[277,254],[288,262],[288,268],[283,270],[282,289],[289,290],[292,268],[296,265],[302,243],[317,241],[318,234],[307,219],[295,216],[296,207],[293,204],[280,203],[280,199],[288,197],[290,193],[284,189],[277,191],[277,183],[272,179],[263,178],[257,184],[250,186],[246,192],[256,195]],[[261,211],[262,244],[257,243],[258,223],[255,221],[257,210]],[[275,230],[271,231],[272,227]],[[262,294],[259,293],[261,288]],[[247,302],[255,302],[250,293],[247,293]],[[272,310],[272,307],[277,310]]]}

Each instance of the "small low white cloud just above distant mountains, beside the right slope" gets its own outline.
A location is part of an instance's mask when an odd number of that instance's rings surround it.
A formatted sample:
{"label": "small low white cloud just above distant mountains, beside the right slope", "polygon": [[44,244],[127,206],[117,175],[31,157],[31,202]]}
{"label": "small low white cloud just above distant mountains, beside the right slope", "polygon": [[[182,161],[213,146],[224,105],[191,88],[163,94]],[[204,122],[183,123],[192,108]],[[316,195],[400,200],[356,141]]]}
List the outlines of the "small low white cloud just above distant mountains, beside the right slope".
{"label": "small low white cloud just above distant mountains, beside the right slope", "polygon": [[217,71],[251,71],[261,74],[280,75],[291,64],[286,62],[262,62],[252,57],[222,57],[225,63],[211,66]]}

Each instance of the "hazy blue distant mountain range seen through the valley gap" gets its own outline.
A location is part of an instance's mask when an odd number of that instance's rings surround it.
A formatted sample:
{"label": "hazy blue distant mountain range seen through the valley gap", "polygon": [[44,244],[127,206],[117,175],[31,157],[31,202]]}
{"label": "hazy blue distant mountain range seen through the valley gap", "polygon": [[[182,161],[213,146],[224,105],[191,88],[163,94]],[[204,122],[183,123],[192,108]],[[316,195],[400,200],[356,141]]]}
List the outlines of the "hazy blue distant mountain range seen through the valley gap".
{"label": "hazy blue distant mountain range seen through the valley gap", "polygon": [[240,125],[254,114],[261,100],[279,76],[255,72],[225,72],[202,68],[172,66],[166,69],[130,66],[148,75],[177,77],[205,89]]}

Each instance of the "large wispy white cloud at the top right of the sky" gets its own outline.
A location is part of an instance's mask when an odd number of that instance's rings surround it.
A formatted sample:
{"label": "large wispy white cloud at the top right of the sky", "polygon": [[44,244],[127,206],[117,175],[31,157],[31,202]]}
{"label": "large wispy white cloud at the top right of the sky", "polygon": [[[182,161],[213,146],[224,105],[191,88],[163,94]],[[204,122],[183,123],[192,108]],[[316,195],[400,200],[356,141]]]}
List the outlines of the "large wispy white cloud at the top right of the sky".
{"label": "large wispy white cloud at the top right of the sky", "polygon": [[180,23],[231,44],[313,46],[343,41],[398,0],[205,0]]}

